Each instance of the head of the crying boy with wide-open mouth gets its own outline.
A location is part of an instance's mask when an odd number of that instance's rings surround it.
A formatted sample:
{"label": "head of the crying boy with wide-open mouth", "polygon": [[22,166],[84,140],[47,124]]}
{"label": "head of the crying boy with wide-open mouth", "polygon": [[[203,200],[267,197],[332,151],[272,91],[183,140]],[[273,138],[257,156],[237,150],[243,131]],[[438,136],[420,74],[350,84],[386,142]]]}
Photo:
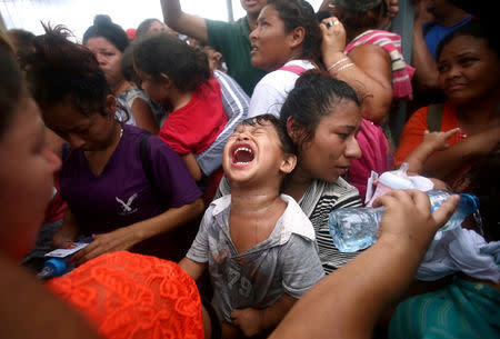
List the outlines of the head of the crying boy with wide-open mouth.
{"label": "head of the crying boy with wide-open mouth", "polygon": [[[277,183],[297,163],[296,148],[284,126],[272,114],[243,120],[228,138],[222,166],[230,185]],[[278,179],[278,180],[277,180]]]}

